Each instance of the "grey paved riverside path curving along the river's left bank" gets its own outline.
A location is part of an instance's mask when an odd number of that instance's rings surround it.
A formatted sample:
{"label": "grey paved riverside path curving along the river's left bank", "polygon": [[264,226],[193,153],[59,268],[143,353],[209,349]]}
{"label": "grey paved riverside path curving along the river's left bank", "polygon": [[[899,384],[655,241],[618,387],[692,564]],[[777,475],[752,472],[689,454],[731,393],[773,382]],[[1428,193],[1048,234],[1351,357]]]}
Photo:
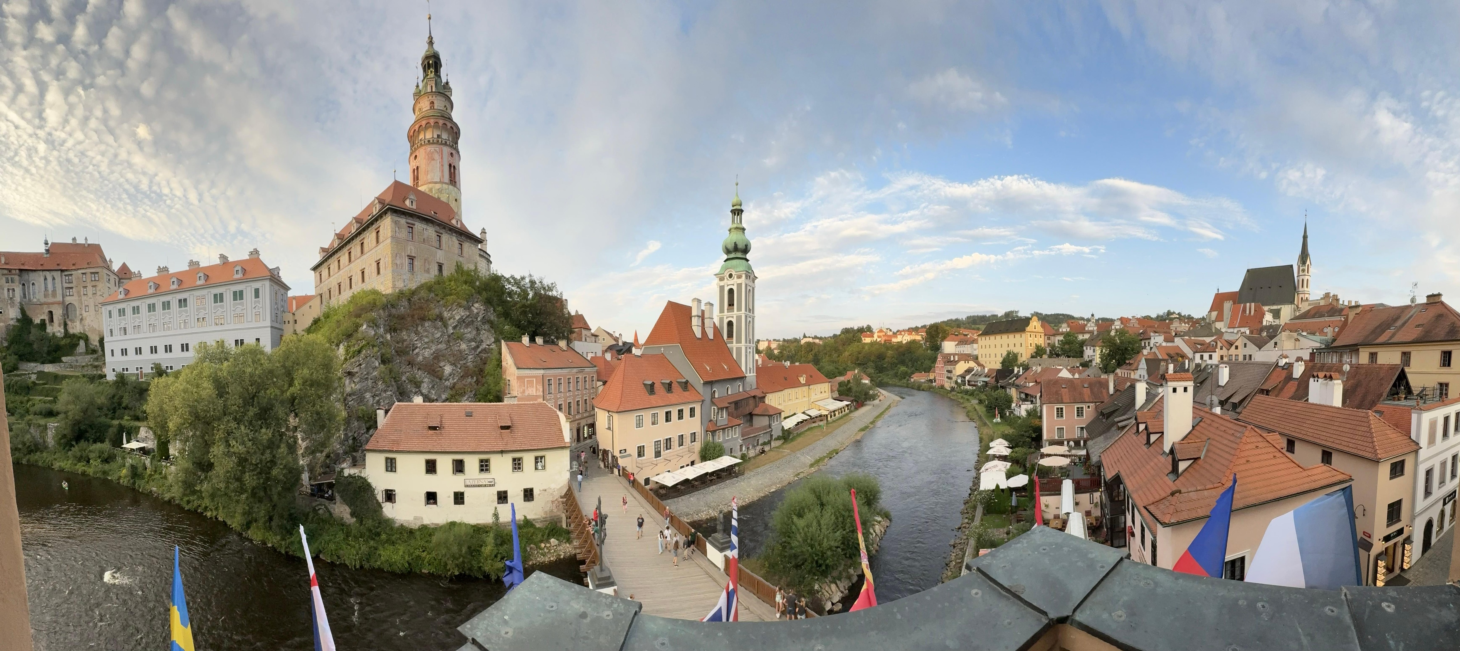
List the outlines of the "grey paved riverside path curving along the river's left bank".
{"label": "grey paved riverside path curving along the river's left bank", "polygon": [[821,455],[847,447],[857,436],[857,431],[863,425],[872,422],[877,417],[885,407],[896,406],[902,398],[894,396],[891,391],[882,393],[885,397],[875,403],[867,403],[861,409],[853,412],[851,419],[841,425],[831,435],[816,441],[806,448],[791,452],[783,460],[772,461],[762,466],[758,470],[745,473],[724,483],[717,483],[704,490],[696,490],[694,493],[670,499],[664,502],[676,515],[685,518],[686,521],[705,520],[715,517],[720,511],[724,511],[730,505],[730,498],[739,498],[740,504],[748,504],[755,499],[761,499],[771,492],[797,480],[806,469],[810,467],[812,461],[821,458]]}

